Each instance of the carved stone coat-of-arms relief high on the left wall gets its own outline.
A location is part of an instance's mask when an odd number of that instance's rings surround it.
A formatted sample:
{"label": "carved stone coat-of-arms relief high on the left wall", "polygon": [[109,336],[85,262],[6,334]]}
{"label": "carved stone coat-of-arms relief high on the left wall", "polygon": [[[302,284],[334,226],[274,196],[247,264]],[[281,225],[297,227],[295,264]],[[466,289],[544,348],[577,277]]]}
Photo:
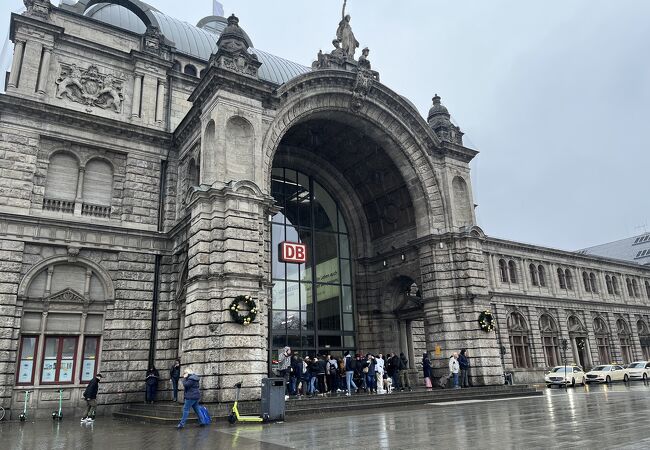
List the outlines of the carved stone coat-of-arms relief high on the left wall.
{"label": "carved stone coat-of-arms relief high on the left wall", "polygon": [[94,65],[81,70],[76,64],[61,64],[61,74],[56,81],[56,97],[65,96],[75,103],[112,109],[119,113],[124,101],[123,83],[123,78],[104,75]]}

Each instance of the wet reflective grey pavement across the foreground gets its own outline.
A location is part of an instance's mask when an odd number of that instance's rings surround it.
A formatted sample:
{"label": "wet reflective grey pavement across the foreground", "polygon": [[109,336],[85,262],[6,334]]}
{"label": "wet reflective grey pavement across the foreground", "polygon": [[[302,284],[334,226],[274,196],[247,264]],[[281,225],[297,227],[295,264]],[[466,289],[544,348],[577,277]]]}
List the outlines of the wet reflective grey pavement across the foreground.
{"label": "wet reflective grey pavement across the foreground", "polygon": [[176,430],[98,418],[0,423],[4,449],[650,448],[650,384],[547,389],[541,397],[351,412],[266,425]]}

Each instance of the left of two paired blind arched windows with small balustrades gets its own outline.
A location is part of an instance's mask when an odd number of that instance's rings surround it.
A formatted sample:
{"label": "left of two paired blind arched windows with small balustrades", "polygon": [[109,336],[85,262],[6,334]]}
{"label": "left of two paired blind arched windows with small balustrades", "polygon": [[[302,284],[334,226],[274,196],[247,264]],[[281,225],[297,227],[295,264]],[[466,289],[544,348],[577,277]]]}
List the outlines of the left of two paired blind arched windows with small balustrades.
{"label": "left of two paired blind arched windows with small balustrades", "polygon": [[45,182],[43,209],[74,212],[77,197],[79,163],[69,153],[56,153],[50,158]]}

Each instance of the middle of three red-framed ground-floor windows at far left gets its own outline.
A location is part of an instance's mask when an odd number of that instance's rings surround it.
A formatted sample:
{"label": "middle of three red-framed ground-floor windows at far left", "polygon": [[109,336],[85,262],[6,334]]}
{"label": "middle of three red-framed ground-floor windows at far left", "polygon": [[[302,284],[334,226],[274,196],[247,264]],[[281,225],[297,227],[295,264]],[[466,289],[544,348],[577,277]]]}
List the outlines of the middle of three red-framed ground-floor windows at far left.
{"label": "middle of three red-framed ground-floor windows at far left", "polygon": [[46,337],[41,383],[72,383],[76,352],[76,337]]}

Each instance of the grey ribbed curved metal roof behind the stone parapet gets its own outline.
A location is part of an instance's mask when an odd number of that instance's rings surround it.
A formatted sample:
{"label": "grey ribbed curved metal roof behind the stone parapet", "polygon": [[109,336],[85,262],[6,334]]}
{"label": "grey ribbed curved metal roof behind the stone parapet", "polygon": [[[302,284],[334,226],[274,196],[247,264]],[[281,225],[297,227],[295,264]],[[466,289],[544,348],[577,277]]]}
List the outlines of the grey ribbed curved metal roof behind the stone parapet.
{"label": "grey ribbed curved metal roof behind the stone parapet", "polygon": [[[77,5],[80,3],[86,4],[87,1],[82,0]],[[152,19],[158,22],[160,31],[168,40],[174,43],[178,53],[201,59],[206,63],[210,59],[210,55],[217,51],[219,36],[228,24],[227,19],[224,17],[208,16],[201,19],[197,26],[194,26],[165,15],[143,2],[133,1],[133,3],[148,7],[147,15],[150,15]],[[130,9],[115,3],[98,3],[88,8],[84,15],[138,34],[144,34],[147,29],[147,26],[138,15]],[[263,80],[275,84],[284,84],[310,70],[298,63],[253,48],[253,43],[246,32],[243,32],[243,37],[250,44],[249,51],[257,55],[262,63],[259,76]]]}

